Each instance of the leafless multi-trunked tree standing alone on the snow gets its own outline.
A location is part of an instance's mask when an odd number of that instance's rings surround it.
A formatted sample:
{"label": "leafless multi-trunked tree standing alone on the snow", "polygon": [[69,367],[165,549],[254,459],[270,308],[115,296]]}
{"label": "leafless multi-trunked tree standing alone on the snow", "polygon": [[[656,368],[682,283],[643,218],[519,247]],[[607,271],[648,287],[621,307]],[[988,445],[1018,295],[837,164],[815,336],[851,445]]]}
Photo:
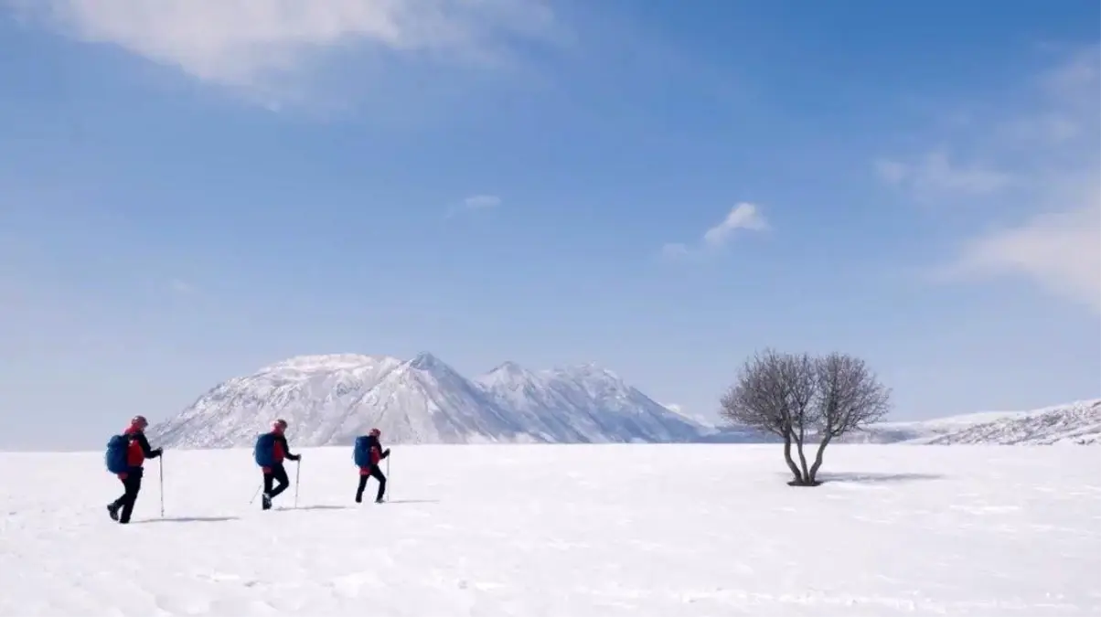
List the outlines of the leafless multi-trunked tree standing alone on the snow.
{"label": "leafless multi-trunked tree standing alone on the snow", "polygon": [[[816,486],[830,441],[882,418],[889,401],[890,390],[859,359],[764,350],[742,366],[738,382],[722,397],[721,414],[731,422],[783,439],[791,484]],[[815,438],[820,440],[818,451],[808,466],[804,447]]]}

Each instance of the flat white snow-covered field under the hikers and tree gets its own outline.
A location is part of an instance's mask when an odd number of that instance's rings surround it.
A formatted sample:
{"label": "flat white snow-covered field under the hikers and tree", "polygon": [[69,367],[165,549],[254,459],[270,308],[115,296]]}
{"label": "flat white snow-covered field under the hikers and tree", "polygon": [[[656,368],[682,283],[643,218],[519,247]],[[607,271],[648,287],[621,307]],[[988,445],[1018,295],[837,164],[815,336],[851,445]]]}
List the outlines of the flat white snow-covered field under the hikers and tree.
{"label": "flat white snow-covered field under the hikers and tree", "polygon": [[251,452],[168,451],[129,527],[100,453],[0,454],[0,615],[1101,612],[1097,448],[837,445],[807,489],[774,445],[394,447],[361,506],[303,452],[263,513]]}

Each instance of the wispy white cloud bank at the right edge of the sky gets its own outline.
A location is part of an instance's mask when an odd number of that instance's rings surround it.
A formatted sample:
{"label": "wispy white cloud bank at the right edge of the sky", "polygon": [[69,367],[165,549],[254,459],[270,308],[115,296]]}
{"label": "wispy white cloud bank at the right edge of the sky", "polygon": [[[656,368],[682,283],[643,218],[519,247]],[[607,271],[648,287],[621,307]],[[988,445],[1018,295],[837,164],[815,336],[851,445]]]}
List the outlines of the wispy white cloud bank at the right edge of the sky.
{"label": "wispy white cloud bank at the right edge of the sky", "polygon": [[[936,274],[942,280],[1023,277],[1101,313],[1101,45],[1078,49],[1035,84],[1037,102],[1028,112],[991,121],[984,139],[966,144],[1004,161],[1022,190],[1000,195],[1007,208],[990,212],[999,224],[966,240]],[[879,170],[886,179],[909,177],[891,164]],[[967,177],[944,188],[1006,184],[1000,175]],[[1005,211],[1024,214],[1005,220]]]}

